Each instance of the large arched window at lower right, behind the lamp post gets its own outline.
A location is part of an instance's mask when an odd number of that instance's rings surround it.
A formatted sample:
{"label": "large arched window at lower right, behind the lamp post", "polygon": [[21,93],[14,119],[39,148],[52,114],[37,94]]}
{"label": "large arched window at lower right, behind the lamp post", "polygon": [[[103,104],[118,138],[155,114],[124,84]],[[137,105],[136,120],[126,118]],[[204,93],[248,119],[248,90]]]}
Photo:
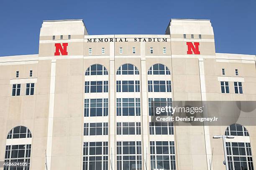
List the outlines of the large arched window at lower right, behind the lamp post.
{"label": "large arched window at lower right, behind the lamp post", "polygon": [[247,129],[242,125],[232,124],[225,130],[225,135],[235,136],[232,142],[226,142],[229,170],[253,170],[251,143],[248,142]]}

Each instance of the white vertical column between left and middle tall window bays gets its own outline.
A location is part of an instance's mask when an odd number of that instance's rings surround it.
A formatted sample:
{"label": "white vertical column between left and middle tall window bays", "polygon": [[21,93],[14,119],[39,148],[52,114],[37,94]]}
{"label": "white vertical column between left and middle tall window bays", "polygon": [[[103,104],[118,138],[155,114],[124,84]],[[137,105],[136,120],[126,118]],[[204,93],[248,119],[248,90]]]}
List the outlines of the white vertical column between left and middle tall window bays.
{"label": "white vertical column between left and middle tall window bays", "polygon": [[110,69],[109,69],[109,107],[110,107],[110,118],[109,118],[109,128],[110,128],[110,143],[109,143],[109,153],[110,153],[110,170],[115,170],[115,44],[110,42]]}

